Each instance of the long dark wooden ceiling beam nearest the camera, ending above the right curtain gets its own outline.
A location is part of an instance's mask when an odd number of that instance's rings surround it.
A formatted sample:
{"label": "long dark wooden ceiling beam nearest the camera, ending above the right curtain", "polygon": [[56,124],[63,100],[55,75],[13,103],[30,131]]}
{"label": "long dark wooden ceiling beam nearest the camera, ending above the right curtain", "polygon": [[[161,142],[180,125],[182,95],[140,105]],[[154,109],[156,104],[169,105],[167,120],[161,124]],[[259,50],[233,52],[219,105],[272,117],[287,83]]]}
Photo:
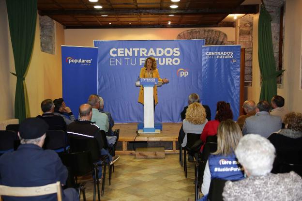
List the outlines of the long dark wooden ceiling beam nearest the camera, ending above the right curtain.
{"label": "long dark wooden ceiling beam nearest the camera, ending above the right curtain", "polygon": [[240,5],[234,9],[123,9],[123,10],[40,10],[40,15],[190,15],[190,14],[256,14],[259,5]]}

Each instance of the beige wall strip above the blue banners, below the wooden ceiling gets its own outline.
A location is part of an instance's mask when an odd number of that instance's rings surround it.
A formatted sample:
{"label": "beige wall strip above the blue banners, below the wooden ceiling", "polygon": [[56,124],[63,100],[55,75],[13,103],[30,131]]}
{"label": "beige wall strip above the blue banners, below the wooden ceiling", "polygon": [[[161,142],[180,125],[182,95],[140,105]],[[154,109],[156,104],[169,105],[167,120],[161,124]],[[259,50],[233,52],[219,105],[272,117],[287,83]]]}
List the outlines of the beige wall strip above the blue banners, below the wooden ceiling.
{"label": "beige wall strip above the blue banners, below the wooden ceiling", "polygon": [[[173,29],[67,29],[65,45],[93,46],[93,40],[175,40],[182,31],[195,28]],[[227,34],[228,41],[235,41],[235,28],[212,28]]]}

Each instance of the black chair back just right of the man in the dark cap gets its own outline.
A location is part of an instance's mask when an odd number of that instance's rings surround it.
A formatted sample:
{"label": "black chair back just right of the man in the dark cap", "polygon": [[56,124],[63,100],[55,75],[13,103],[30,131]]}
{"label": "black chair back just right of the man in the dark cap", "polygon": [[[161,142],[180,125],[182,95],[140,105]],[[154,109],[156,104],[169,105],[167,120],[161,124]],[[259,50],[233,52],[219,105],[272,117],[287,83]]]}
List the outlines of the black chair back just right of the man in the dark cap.
{"label": "black chair back just right of the man in the dark cap", "polygon": [[66,152],[66,148],[68,148],[66,132],[63,130],[48,130],[43,148],[54,150],[57,153]]}

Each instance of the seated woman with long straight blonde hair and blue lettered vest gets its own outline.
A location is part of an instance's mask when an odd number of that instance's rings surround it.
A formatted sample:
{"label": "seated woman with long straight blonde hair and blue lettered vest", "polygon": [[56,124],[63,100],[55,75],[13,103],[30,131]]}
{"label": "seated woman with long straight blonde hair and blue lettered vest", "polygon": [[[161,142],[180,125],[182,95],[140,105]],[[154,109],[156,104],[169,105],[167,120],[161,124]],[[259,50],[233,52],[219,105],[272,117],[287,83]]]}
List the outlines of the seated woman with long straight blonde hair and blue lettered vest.
{"label": "seated woman with long straight blonde hair and blue lettered vest", "polygon": [[205,195],[201,200],[207,200],[211,179],[241,180],[244,178],[242,167],[239,166],[234,150],[242,132],[238,124],[228,119],[218,126],[217,151],[209,156],[204,174],[201,192]]}

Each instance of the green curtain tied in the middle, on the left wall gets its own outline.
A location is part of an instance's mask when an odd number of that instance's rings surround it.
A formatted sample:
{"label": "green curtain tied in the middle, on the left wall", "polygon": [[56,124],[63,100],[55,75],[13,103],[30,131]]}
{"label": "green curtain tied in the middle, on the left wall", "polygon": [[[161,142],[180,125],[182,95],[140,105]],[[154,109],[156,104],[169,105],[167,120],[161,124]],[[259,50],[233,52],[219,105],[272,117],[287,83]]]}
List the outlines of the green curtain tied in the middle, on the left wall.
{"label": "green curtain tied in the middle, on the left wall", "polygon": [[6,0],[6,7],[15,60],[12,74],[17,77],[15,118],[22,122],[26,118],[24,80],[34,43],[37,0]]}

